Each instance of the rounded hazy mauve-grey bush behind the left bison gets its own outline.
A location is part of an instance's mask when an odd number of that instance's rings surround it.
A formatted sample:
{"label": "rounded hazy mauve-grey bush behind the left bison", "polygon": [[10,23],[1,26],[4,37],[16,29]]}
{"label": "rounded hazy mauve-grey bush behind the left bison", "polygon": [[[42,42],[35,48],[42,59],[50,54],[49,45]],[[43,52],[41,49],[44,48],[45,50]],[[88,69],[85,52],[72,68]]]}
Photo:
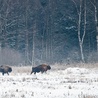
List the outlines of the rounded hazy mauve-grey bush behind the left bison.
{"label": "rounded hazy mauve-grey bush behind the left bison", "polygon": [[10,48],[0,49],[0,65],[20,65],[23,63],[23,57],[18,51]]}

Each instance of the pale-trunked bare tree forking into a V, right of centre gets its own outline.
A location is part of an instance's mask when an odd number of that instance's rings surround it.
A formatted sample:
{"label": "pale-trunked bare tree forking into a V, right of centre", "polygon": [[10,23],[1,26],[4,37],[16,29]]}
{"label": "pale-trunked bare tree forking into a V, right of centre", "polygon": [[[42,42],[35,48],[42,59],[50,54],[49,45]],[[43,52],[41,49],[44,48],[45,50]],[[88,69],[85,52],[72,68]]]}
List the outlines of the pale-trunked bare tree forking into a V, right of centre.
{"label": "pale-trunked bare tree forking into a V, right of centre", "polygon": [[[77,9],[77,13],[78,13],[78,24],[77,24],[78,40],[79,40],[79,46],[80,46],[81,59],[82,59],[82,62],[84,62],[85,60],[84,60],[84,53],[83,53],[83,42],[84,42],[84,38],[85,38],[85,34],[86,34],[86,0],[84,0],[84,13],[82,13],[83,0],[80,0],[79,9],[78,9],[77,3],[74,0],[72,0],[72,1],[74,2],[75,7]],[[81,32],[82,14],[84,14],[84,30],[83,30],[83,32]]]}

